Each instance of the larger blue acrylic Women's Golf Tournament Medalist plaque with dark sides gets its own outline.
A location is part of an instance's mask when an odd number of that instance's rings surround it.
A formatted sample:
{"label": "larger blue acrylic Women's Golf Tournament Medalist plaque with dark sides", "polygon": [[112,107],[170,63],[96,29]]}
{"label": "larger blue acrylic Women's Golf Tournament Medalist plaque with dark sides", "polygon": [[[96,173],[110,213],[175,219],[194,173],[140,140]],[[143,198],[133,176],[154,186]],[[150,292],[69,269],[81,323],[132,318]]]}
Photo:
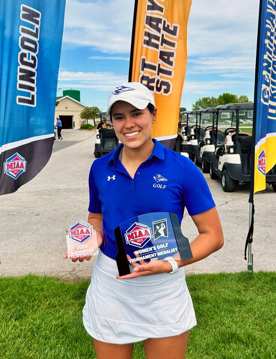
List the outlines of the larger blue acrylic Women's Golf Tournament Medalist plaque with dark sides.
{"label": "larger blue acrylic Women's Golf Tournament Medalist plaque with dark sides", "polygon": [[154,212],[133,217],[115,228],[114,234],[120,276],[130,274],[132,262],[163,260],[168,256],[175,260],[193,257],[188,238],[183,236],[174,213]]}

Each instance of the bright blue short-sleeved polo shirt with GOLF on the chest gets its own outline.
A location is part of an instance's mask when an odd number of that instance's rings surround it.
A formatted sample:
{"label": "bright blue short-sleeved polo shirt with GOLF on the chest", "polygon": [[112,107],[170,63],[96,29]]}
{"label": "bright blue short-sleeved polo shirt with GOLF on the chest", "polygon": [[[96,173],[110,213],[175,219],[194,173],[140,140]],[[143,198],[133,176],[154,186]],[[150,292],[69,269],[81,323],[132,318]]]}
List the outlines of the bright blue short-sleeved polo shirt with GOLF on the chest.
{"label": "bright blue short-sleeved polo shirt with GOLF on the chest", "polygon": [[[113,230],[126,220],[151,212],[170,212],[181,224],[184,208],[190,215],[215,206],[209,187],[197,166],[187,157],[154,141],[150,157],[132,179],[118,154],[122,144],[95,159],[89,174],[89,212],[103,214],[108,244],[102,252],[115,259],[117,244]],[[184,233],[185,234],[185,233]]]}

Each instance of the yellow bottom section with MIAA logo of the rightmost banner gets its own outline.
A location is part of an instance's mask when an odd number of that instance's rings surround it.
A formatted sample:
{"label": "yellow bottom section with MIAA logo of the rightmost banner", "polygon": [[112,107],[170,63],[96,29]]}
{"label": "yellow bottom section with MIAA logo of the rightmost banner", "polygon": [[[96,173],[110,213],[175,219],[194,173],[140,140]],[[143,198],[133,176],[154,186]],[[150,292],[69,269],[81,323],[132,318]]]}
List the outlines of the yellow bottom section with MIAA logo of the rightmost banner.
{"label": "yellow bottom section with MIAA logo of the rightmost banner", "polygon": [[[267,134],[255,149],[254,193],[266,188],[266,173],[275,165],[276,134]],[[267,156],[268,154],[268,156]]]}

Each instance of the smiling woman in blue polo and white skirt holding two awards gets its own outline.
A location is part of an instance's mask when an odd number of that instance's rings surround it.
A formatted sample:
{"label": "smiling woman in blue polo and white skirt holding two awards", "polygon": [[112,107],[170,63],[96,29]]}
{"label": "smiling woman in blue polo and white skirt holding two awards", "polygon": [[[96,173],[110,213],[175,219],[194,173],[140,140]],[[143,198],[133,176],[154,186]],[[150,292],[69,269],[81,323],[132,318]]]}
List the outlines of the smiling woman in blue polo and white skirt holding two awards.
{"label": "smiling woman in blue polo and white skirt holding two awards", "polygon": [[[196,325],[184,266],[223,246],[215,203],[196,165],[151,139],[157,109],[148,88],[124,83],[112,90],[107,105],[122,144],[96,159],[89,174],[88,222],[97,231],[99,255],[83,323],[93,337],[97,359],[131,359],[137,341],[143,341],[147,359],[183,359]],[[199,233],[190,243],[193,257],[133,262],[131,273],[119,276],[113,230],[150,212],[175,213],[181,223],[185,207]]]}

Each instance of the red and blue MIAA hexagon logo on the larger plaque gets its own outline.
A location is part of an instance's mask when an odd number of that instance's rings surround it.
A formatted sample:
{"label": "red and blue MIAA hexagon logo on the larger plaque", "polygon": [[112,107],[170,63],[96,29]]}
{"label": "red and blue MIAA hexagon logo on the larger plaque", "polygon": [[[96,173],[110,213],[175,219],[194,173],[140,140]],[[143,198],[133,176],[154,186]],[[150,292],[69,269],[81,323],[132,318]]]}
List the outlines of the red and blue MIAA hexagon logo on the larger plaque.
{"label": "red and blue MIAA hexagon logo on the larger plaque", "polygon": [[151,228],[138,222],[133,223],[125,233],[126,243],[138,248],[144,247],[150,238],[153,238]]}

